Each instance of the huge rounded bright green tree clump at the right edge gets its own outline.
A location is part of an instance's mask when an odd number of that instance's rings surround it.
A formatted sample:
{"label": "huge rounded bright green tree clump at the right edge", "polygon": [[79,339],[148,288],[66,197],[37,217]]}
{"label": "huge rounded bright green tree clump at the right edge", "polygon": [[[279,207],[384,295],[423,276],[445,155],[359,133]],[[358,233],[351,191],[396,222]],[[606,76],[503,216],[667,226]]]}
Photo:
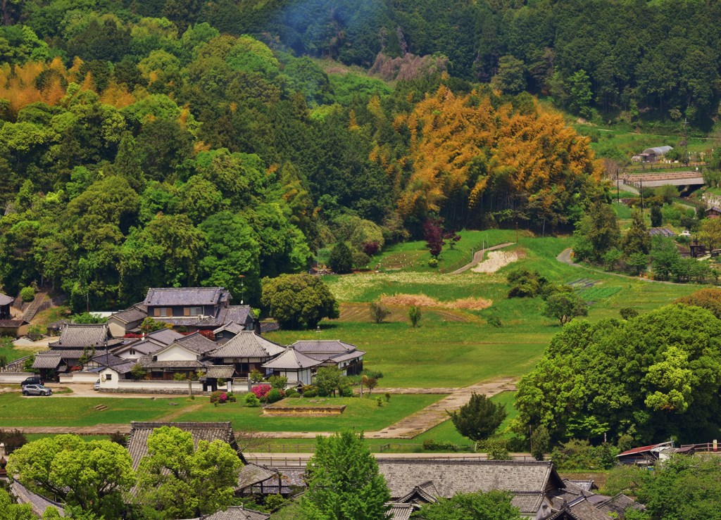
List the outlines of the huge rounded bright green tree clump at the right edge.
{"label": "huge rounded bright green tree clump at the right edge", "polygon": [[686,305],[574,321],[518,385],[520,431],[542,425],[554,441],[705,438],[718,425],[720,332],[721,320]]}

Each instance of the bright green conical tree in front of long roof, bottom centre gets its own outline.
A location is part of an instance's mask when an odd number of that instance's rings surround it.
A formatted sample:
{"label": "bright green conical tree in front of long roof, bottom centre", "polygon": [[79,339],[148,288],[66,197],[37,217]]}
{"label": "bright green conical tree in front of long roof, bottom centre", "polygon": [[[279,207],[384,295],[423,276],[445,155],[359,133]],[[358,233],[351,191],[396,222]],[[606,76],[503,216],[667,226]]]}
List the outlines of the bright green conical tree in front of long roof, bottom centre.
{"label": "bright green conical tree in front of long roof, bottom centre", "polygon": [[306,519],[389,519],[391,494],[363,433],[342,431],[316,438],[306,468],[308,491],[301,498]]}

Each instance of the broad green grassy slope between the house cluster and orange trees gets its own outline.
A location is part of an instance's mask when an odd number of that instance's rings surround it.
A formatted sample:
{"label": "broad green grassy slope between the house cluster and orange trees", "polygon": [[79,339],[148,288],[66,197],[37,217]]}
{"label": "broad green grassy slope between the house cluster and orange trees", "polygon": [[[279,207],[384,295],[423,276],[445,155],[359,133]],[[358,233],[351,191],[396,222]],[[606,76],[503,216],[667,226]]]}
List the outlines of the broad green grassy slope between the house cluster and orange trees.
{"label": "broad green grassy slope between the house cluster and orange trees", "polygon": [[[407,251],[423,243],[407,243]],[[589,319],[618,316],[622,307],[650,310],[689,294],[692,285],[654,284],[629,277],[591,272],[556,261],[570,245],[568,238],[521,238],[518,248],[526,258],[496,274],[443,275],[425,272],[354,274],[328,277],[327,282],[342,302],[369,302],[382,294],[425,294],[448,302],[462,297],[493,300],[503,328],[492,328],[482,316],[487,311],[464,311],[467,322],[444,322],[422,318],[420,327],[406,323],[353,323],[326,320],[321,331],[278,331],[269,339],[289,344],[296,339],[342,339],[368,352],[366,367],[384,372],[386,387],[458,387],[500,376],[520,376],[541,356],[557,323],[541,316],[543,302],[536,298],[508,300],[505,272],[514,266],[538,269],[556,283],[588,277],[598,287],[620,287],[611,297],[594,303]]]}

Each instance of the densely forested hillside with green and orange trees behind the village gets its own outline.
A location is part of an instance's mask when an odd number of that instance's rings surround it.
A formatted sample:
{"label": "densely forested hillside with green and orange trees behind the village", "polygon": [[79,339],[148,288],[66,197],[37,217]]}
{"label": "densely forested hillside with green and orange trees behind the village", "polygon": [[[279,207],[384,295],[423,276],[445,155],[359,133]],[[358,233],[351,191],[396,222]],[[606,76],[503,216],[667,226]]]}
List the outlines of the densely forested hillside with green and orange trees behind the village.
{"label": "densely forested hillside with green and orange trees behind the village", "polygon": [[260,277],[338,241],[363,266],[430,215],[570,227],[601,169],[529,92],[715,115],[715,3],[516,4],[2,1],[0,284],[257,303]]}

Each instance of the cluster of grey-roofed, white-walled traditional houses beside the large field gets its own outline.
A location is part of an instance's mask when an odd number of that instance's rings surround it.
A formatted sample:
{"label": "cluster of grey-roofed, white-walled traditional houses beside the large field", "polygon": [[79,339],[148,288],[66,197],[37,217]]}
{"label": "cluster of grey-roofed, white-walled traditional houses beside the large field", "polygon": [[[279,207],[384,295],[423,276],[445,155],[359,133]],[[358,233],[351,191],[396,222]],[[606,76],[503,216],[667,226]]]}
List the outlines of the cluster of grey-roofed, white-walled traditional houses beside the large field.
{"label": "cluster of grey-roofed, white-walled traditional houses beside the large field", "polygon": [[[218,380],[247,382],[253,371],[301,386],[310,385],[320,367],[337,367],[343,375],[363,370],[366,353],[339,340],[284,346],[265,339],[252,309],[229,305],[230,299],[223,287],[152,288],[143,302],[112,314],[107,323],[62,324],[58,340],[35,355],[32,368],[43,380],[97,378],[108,391],[142,391],[143,382],[151,390],[159,387],[153,382],[179,380],[217,390]],[[141,323],[149,317],[168,328],[143,333]]]}

